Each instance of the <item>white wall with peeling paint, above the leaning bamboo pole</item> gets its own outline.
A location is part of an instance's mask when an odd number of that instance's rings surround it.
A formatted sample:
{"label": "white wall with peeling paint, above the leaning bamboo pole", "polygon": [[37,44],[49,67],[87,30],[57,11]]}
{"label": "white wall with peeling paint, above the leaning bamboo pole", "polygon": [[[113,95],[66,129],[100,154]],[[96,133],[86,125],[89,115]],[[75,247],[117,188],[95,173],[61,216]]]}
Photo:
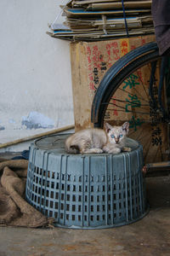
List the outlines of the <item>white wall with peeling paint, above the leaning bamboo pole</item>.
{"label": "white wall with peeling paint, above the leaning bamboo pole", "polygon": [[46,34],[65,2],[0,1],[0,143],[74,124],[70,43]]}

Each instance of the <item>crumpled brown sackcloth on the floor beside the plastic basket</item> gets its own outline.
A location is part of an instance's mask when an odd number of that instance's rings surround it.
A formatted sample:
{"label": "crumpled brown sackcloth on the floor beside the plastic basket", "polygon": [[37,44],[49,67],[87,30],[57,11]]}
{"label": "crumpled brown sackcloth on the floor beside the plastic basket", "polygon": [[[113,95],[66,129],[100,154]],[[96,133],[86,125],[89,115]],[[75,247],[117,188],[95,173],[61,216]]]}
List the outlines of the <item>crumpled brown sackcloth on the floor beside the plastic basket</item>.
{"label": "crumpled brown sackcloth on the floor beside the plastic basket", "polygon": [[25,201],[27,166],[27,160],[0,160],[0,225],[48,225],[48,218]]}

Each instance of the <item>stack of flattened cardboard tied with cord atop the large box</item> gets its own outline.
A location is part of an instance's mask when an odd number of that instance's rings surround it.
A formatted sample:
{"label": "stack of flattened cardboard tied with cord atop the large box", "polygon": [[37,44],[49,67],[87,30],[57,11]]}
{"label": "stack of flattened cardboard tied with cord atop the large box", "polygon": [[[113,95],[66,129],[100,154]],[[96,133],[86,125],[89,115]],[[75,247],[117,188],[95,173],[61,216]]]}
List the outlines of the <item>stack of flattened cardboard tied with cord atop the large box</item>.
{"label": "stack of flattened cardboard tied with cord atop the large box", "polygon": [[71,0],[61,8],[66,20],[51,26],[54,38],[94,41],[154,33],[151,0]]}

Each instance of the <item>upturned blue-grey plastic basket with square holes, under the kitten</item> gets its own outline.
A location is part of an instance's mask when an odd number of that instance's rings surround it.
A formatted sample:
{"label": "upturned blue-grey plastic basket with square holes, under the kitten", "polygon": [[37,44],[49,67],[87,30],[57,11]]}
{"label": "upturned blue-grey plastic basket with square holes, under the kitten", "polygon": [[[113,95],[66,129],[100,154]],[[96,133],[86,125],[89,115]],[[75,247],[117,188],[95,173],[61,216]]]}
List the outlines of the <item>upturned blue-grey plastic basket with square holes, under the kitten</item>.
{"label": "upturned blue-grey plastic basket with square holes, under the kitten", "polygon": [[117,155],[66,154],[66,137],[31,144],[26,200],[59,227],[102,229],[143,218],[142,146],[135,143],[133,151]]}

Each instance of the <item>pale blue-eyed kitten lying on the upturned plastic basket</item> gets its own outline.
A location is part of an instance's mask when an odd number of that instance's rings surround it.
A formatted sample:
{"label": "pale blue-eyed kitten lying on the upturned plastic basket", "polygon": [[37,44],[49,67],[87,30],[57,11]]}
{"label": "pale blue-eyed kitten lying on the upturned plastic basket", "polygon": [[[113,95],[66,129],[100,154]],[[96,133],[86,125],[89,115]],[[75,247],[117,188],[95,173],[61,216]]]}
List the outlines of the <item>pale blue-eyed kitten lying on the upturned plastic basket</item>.
{"label": "pale blue-eyed kitten lying on the upturned plastic basket", "polygon": [[65,151],[71,154],[112,153],[131,151],[125,147],[129,123],[111,126],[105,123],[105,129],[89,128],[77,131],[65,141]]}

